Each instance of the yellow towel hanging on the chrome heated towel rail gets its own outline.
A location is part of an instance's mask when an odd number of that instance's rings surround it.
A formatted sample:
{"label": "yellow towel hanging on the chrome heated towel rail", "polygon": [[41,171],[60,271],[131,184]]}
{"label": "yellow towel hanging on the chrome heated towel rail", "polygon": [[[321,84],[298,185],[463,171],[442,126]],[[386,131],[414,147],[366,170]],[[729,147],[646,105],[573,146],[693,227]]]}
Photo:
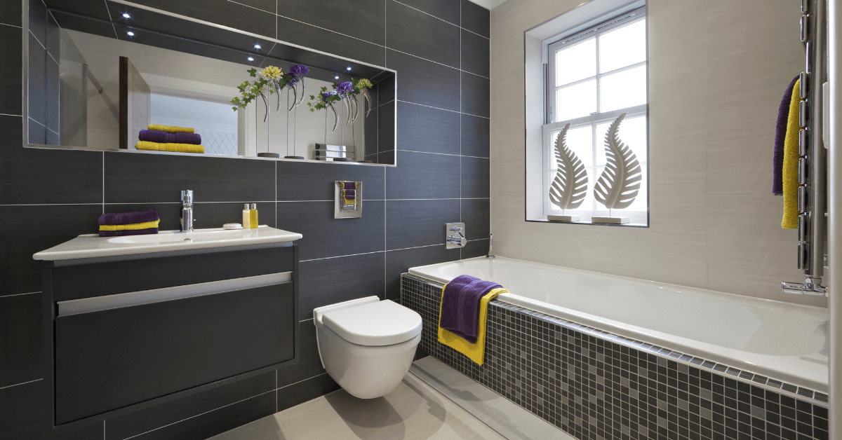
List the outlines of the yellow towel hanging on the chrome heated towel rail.
{"label": "yellow towel hanging on the chrome heated towel rail", "polygon": [[781,220],[781,227],[784,229],[795,229],[798,227],[798,104],[799,81],[792,87],[792,99],[790,101],[790,113],[786,119],[786,137],[784,138],[784,218]]}

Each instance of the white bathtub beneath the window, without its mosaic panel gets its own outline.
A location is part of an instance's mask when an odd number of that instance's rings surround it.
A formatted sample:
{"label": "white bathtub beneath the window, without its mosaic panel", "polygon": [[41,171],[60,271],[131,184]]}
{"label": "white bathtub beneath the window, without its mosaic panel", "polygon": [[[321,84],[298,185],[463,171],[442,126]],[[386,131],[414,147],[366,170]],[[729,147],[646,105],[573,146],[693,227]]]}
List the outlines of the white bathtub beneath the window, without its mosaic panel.
{"label": "white bathtub beneath the window, without its mosaic panel", "polygon": [[502,284],[498,300],[828,392],[828,310],[536,262],[477,257],[409,269]]}

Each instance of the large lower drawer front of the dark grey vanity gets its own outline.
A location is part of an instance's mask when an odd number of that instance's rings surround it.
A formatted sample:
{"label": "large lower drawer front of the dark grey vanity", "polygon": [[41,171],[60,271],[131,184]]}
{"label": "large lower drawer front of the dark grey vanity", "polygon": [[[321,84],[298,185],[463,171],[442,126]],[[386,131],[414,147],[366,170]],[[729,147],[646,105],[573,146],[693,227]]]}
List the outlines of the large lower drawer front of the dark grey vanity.
{"label": "large lower drawer front of the dark grey vanity", "polygon": [[292,282],[58,315],[56,425],[295,357]]}

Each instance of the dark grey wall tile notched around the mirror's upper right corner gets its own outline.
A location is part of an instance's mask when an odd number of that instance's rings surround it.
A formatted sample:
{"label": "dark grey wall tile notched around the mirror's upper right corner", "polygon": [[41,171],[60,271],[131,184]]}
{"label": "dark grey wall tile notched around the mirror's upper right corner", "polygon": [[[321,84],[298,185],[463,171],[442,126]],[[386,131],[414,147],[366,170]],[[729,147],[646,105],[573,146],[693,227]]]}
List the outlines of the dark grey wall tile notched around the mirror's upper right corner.
{"label": "dark grey wall tile notched around the mirror's upper right corner", "polygon": [[397,98],[459,111],[459,71],[416,56],[386,50],[386,67],[397,71]]}

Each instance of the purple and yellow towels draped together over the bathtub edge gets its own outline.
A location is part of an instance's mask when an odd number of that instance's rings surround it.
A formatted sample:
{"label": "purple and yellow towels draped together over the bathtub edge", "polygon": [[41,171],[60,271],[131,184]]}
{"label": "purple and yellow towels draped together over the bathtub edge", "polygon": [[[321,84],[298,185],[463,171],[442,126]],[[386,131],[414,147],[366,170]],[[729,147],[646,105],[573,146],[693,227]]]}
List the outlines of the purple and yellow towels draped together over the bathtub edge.
{"label": "purple and yellow towels draped together over the bathtub edge", "polygon": [[488,302],[506,292],[500,284],[469,275],[453,278],[441,291],[439,342],[482,365]]}

